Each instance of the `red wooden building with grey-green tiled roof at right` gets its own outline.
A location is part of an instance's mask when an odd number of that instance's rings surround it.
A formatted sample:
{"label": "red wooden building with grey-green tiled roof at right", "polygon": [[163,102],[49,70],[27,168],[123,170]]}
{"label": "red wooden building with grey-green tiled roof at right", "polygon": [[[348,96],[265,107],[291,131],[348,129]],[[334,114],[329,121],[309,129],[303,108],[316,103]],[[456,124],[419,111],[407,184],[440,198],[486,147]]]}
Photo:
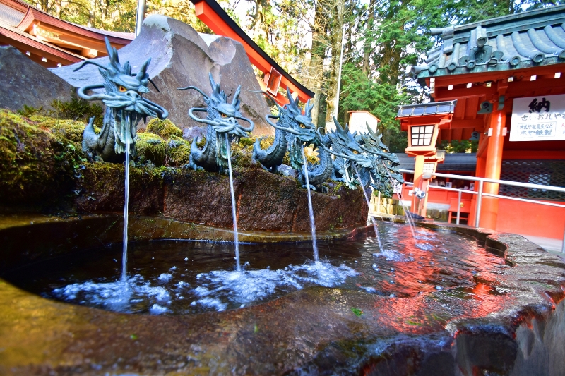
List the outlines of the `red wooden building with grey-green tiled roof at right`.
{"label": "red wooden building with grey-green tiled roof at right", "polygon": [[[438,119],[403,116],[408,109],[401,107],[398,119],[409,139],[415,126],[429,124],[436,125],[437,143],[478,136],[474,176],[564,187],[565,6],[431,32],[441,42],[427,52],[424,66],[412,67],[412,73],[429,87],[434,102],[457,102],[450,114],[435,116]],[[430,105],[434,103],[416,107]],[[407,153],[433,155],[435,145],[428,154],[410,145]],[[416,171],[415,180],[418,174],[422,171]],[[495,183],[484,183],[483,189],[487,194],[565,205],[565,193]],[[429,190],[427,200],[447,204],[444,196]],[[470,201],[476,198],[468,196]],[[475,202],[470,206],[469,222],[474,224]],[[565,206],[484,197],[479,223],[499,231],[562,239]]]}

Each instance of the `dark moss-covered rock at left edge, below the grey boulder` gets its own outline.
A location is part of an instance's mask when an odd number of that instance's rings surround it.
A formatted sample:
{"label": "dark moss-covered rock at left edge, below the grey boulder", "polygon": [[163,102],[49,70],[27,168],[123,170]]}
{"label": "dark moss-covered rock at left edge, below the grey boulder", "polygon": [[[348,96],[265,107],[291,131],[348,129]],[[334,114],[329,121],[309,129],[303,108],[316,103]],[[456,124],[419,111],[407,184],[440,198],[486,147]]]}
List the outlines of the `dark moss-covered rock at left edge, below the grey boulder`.
{"label": "dark moss-covered rock at left edge, below the grey boulder", "polygon": [[85,161],[76,145],[0,109],[0,200],[37,202],[69,193]]}

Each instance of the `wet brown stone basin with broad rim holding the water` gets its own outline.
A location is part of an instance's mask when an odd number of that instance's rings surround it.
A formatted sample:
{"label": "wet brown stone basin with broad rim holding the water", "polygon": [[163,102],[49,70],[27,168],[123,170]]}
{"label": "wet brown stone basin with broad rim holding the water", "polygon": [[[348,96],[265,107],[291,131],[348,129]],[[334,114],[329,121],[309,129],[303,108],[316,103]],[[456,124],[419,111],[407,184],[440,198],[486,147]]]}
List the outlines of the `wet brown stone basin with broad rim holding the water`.
{"label": "wet brown stone basin with broad rim holding the water", "polygon": [[[85,262],[82,266],[93,262],[81,250],[95,254],[97,248],[102,255],[99,260],[112,257],[112,267],[92,265],[92,269],[105,269],[106,278],[117,278],[117,262],[113,261],[116,257],[112,255],[115,249],[101,250],[102,244],[119,241],[117,217],[28,219],[6,220],[0,229],[4,244],[2,275],[33,291],[0,282],[0,374],[563,375],[565,372],[565,264],[521,236],[427,224],[418,229],[422,238],[417,248],[409,236],[404,236],[410,233],[408,229],[379,223],[383,233],[386,228],[387,233],[396,231],[400,235],[401,249],[387,257],[372,254],[377,247],[370,232],[368,237],[359,234],[363,232],[361,229],[321,234],[326,239],[357,235],[350,241],[321,243],[320,250],[322,257],[326,257],[324,261],[331,263],[337,257],[341,260],[334,262],[335,267],[345,264],[359,274],[345,277],[343,282],[330,287],[304,283],[300,289],[281,288],[281,293],[273,293],[244,308],[232,309],[241,302],[228,300],[225,310],[220,312],[203,305],[196,305],[191,311],[194,305],[187,305],[160,315],[135,315],[109,312],[104,304],[100,306],[106,310],[100,310],[38,295],[49,296],[49,291],[78,278],[81,258]],[[151,279],[151,273],[158,280],[167,268],[173,279],[182,277],[181,271],[188,273],[200,268],[199,272],[206,273],[206,267],[197,265],[200,262],[184,266],[184,258],[189,255],[206,259],[212,254],[220,260],[215,269],[220,265],[224,270],[233,268],[229,246],[223,244],[156,242],[160,247],[174,249],[170,255],[176,252],[184,255],[179,260],[171,260],[176,255],[160,260],[157,257],[161,253],[150,250],[144,242],[155,238],[194,238],[195,231],[208,234],[208,240],[220,241],[227,240],[229,231],[208,229],[206,233],[190,224],[148,217],[132,219],[131,228],[133,238],[138,241],[132,244],[131,271],[142,273],[136,271],[136,262],[153,265],[149,270],[156,270],[148,272],[147,280]],[[465,240],[473,249],[454,250],[446,246],[442,250],[441,243],[446,242],[436,243],[434,239],[444,236],[441,232],[455,232],[446,235]],[[244,239],[245,236],[248,241],[261,237],[281,240],[280,234],[244,234]],[[305,234],[295,236],[303,238],[292,240],[307,239]],[[388,241],[388,237],[384,240]],[[427,249],[425,244],[435,250]],[[340,252],[342,257],[331,255],[334,245],[345,248]],[[359,245],[365,250],[359,250]],[[272,257],[266,260],[265,252],[270,252]],[[67,274],[74,277],[49,281],[47,284],[61,286],[50,286],[44,291],[33,287],[34,279],[46,281],[54,279],[49,274],[57,274],[47,270],[54,269],[49,266],[53,261],[47,260],[54,257],[64,260],[69,255],[76,256],[79,267],[66,268]],[[157,256],[157,261],[149,256]],[[276,270],[290,264],[303,265],[309,258],[308,243],[242,247],[242,260],[250,264],[248,271],[266,266]],[[177,267],[172,272],[171,263]],[[372,264],[377,265],[378,272]],[[18,268],[19,275],[10,273]],[[25,277],[34,268],[37,274]],[[89,278],[92,277],[86,277]],[[167,283],[178,285],[179,280],[173,279]],[[157,286],[157,282],[153,283]],[[196,278],[188,283],[196,287]],[[169,295],[174,296],[174,291],[171,292]],[[186,293],[185,298],[195,301],[198,297]],[[65,297],[59,299],[66,301]],[[150,312],[153,306],[150,303],[138,311]],[[172,302],[162,306],[173,305]]]}

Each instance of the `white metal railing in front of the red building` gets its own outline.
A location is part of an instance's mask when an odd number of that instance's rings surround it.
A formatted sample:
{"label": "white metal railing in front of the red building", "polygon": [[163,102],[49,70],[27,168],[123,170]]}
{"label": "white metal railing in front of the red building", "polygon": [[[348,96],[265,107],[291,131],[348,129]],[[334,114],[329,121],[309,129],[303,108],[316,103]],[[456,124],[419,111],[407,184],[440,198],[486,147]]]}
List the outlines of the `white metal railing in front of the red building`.
{"label": "white metal railing in front of the red building", "polygon": [[[413,170],[400,170],[400,172],[405,174],[414,174]],[[441,190],[452,190],[458,192],[458,205],[457,205],[457,224],[459,224],[459,217],[460,217],[460,205],[461,205],[461,193],[470,193],[472,195],[477,195],[477,207],[475,210],[475,227],[479,226],[479,219],[480,219],[480,212],[481,212],[481,205],[482,205],[482,197],[494,197],[494,198],[504,198],[506,200],[516,200],[522,202],[530,202],[537,205],[548,205],[548,206],[557,206],[562,207],[565,209],[565,205],[556,204],[554,202],[543,202],[538,200],[528,200],[525,198],[515,198],[503,195],[494,195],[492,193],[483,193],[484,183],[494,183],[494,184],[503,184],[506,186],[515,186],[515,187],[522,187],[522,188],[531,188],[531,189],[540,189],[540,190],[552,190],[554,192],[561,192],[565,193],[565,187],[556,187],[556,186],[544,186],[542,184],[531,184],[531,183],[521,183],[518,181],[508,181],[508,180],[496,180],[496,179],[489,179],[489,178],[477,178],[475,176],[465,176],[465,175],[453,175],[453,174],[439,174],[435,173],[432,176],[437,176],[440,178],[454,178],[459,180],[466,180],[466,181],[477,181],[479,183],[478,190],[463,190],[463,189],[456,189],[456,188],[448,188],[448,187],[440,187],[440,186],[428,186],[430,189],[441,189]],[[405,183],[407,186],[413,186],[413,183]],[[565,215],[565,214],[564,214]],[[565,253],[565,229],[563,232],[563,244],[561,245],[561,252]]]}

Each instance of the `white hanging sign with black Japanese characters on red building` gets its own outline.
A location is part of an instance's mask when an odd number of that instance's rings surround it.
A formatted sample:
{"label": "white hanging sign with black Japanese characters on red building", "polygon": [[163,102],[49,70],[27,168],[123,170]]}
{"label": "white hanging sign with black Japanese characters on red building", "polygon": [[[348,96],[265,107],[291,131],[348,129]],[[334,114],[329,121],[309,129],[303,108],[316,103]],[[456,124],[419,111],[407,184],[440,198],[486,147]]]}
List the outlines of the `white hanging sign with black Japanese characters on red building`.
{"label": "white hanging sign with black Japanese characters on red building", "polygon": [[565,95],[514,99],[510,140],[565,140]]}

